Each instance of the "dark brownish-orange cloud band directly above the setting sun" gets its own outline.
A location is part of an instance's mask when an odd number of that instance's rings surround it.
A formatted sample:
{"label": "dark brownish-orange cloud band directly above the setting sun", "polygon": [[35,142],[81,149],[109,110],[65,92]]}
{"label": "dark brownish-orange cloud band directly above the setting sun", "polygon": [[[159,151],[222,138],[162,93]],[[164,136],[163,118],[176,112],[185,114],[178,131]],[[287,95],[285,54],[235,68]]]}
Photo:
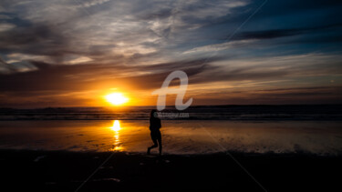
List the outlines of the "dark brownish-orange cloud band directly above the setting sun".
{"label": "dark brownish-orange cloud band directly above the setting sun", "polygon": [[[35,71],[0,75],[0,91],[77,91],[98,84],[108,85],[108,88],[130,84],[136,89],[156,89],[172,71],[183,70],[188,76],[195,76],[203,71],[211,71],[216,66],[210,62],[212,58],[192,61],[162,63],[154,66],[108,66],[101,64],[58,66],[43,62],[32,62],[37,67]],[[204,62],[205,61],[205,62]],[[131,73],[129,77],[119,76],[120,73]],[[152,72],[150,75],[136,76],[136,71]],[[74,77],[73,77],[74,76]]]}

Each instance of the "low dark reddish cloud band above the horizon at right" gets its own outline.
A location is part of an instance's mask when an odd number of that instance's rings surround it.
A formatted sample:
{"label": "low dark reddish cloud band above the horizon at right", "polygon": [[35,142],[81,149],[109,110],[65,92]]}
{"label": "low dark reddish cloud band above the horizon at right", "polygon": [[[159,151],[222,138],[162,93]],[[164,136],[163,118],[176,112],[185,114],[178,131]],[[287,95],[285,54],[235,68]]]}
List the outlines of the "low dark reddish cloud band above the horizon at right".
{"label": "low dark reddish cloud band above the horizon at right", "polygon": [[209,96],[199,96],[195,99],[196,105],[225,104],[342,104],[342,86],[328,87],[295,87],[268,89],[212,92]]}

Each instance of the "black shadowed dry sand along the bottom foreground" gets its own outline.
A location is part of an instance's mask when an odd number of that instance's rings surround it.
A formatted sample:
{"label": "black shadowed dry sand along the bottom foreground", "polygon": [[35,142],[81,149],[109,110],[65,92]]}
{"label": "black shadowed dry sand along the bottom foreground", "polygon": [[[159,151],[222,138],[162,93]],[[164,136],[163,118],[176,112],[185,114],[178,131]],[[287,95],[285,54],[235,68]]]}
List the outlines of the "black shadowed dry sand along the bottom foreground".
{"label": "black shadowed dry sand along the bottom foreground", "polygon": [[[340,191],[342,157],[231,153],[267,191]],[[0,150],[1,191],[76,191],[112,153]],[[4,190],[3,190],[4,189]],[[78,191],[264,191],[225,154],[115,153]]]}

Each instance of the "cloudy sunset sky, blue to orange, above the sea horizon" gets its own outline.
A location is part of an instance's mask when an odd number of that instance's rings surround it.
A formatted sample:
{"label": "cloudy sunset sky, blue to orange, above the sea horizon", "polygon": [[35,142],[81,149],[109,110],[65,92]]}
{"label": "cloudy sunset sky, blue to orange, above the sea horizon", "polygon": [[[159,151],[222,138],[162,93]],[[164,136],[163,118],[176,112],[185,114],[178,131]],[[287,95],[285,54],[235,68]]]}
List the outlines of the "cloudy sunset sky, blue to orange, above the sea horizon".
{"label": "cloudy sunset sky, blue to orange, above the sea horizon", "polygon": [[331,0],[2,0],[0,107],[109,106],[114,92],[153,106],[176,70],[195,106],[342,104],[341,10]]}

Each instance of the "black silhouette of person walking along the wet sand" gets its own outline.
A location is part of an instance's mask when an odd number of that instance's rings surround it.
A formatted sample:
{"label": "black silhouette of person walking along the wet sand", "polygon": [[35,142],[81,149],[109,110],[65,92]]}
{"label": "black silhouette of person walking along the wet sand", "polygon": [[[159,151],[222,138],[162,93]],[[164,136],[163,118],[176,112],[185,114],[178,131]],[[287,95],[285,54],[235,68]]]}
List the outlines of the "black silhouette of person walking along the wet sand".
{"label": "black silhouette of person walking along the wet sand", "polygon": [[159,146],[159,155],[161,156],[161,119],[158,118],[157,110],[150,111],[150,138],[153,141],[153,146],[148,147],[147,154],[150,155],[150,149]]}

